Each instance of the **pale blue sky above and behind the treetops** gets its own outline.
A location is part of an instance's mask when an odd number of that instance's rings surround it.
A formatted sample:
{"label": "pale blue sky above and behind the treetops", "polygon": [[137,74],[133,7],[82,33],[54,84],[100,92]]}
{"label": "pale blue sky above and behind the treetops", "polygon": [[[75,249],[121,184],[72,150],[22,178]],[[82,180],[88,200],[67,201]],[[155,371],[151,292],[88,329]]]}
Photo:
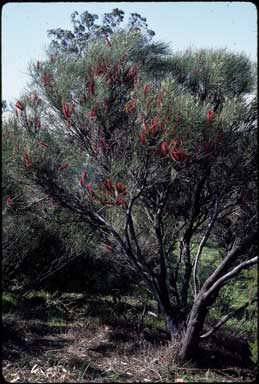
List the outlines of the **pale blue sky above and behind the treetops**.
{"label": "pale blue sky above and behind the treetops", "polygon": [[12,102],[29,81],[28,63],[42,59],[51,28],[70,29],[70,15],[99,16],[118,7],[140,13],[155,39],[173,50],[226,47],[257,58],[257,10],[252,2],[42,2],[6,3],[2,8],[2,99]]}

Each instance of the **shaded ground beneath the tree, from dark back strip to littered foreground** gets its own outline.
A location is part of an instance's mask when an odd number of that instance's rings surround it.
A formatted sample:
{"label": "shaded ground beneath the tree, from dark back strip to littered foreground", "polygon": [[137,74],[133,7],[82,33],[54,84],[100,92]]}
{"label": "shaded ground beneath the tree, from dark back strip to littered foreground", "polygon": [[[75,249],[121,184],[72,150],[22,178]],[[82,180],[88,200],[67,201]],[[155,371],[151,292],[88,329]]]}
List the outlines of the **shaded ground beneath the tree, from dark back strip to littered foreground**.
{"label": "shaded ground beneath the tree, from dark back strip to littered foreground", "polygon": [[[8,382],[240,382],[255,379],[216,338],[197,364],[179,366],[163,320],[137,298],[31,293],[4,307],[3,375]],[[123,310],[122,310],[123,309]],[[142,321],[142,324],[141,324]],[[223,337],[221,335],[221,337]],[[226,339],[227,340],[227,339]],[[227,343],[226,343],[227,344]],[[240,358],[241,357],[241,358]],[[243,362],[243,363],[242,363]],[[248,368],[249,367],[249,368]]]}

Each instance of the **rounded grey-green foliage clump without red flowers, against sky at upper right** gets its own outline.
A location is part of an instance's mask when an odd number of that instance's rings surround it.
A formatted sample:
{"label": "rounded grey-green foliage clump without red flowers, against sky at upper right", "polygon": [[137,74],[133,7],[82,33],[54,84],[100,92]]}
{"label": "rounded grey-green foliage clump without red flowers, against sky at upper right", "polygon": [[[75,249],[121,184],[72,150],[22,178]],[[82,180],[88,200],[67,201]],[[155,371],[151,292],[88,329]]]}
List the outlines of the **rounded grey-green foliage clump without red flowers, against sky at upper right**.
{"label": "rounded grey-green foliage clump without red flowers, against sky at upper right", "polygon": [[[172,74],[194,94],[213,101],[215,97],[234,97],[254,90],[254,68],[242,53],[226,49],[188,49],[170,58]],[[216,101],[216,100],[215,100]]]}

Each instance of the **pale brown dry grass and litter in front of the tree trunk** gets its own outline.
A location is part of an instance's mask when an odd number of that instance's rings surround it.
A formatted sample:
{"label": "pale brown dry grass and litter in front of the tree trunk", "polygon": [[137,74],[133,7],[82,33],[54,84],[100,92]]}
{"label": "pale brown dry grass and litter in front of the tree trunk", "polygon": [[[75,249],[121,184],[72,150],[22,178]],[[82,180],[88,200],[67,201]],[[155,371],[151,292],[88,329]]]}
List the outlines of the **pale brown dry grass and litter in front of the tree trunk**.
{"label": "pale brown dry grass and litter in front of the tree trunk", "polygon": [[[108,307],[102,308],[106,311]],[[148,326],[139,328],[119,317],[113,322],[110,315],[105,322],[107,311],[102,321],[80,317],[79,313],[81,307],[78,312],[73,311],[74,318],[62,318],[62,321],[28,319],[28,313],[26,320],[18,314],[5,317],[2,369],[5,380],[145,383],[254,379],[254,372],[237,367],[214,370],[190,365],[179,367],[174,361],[178,345],[168,341],[159,323],[151,326],[150,319]]]}

